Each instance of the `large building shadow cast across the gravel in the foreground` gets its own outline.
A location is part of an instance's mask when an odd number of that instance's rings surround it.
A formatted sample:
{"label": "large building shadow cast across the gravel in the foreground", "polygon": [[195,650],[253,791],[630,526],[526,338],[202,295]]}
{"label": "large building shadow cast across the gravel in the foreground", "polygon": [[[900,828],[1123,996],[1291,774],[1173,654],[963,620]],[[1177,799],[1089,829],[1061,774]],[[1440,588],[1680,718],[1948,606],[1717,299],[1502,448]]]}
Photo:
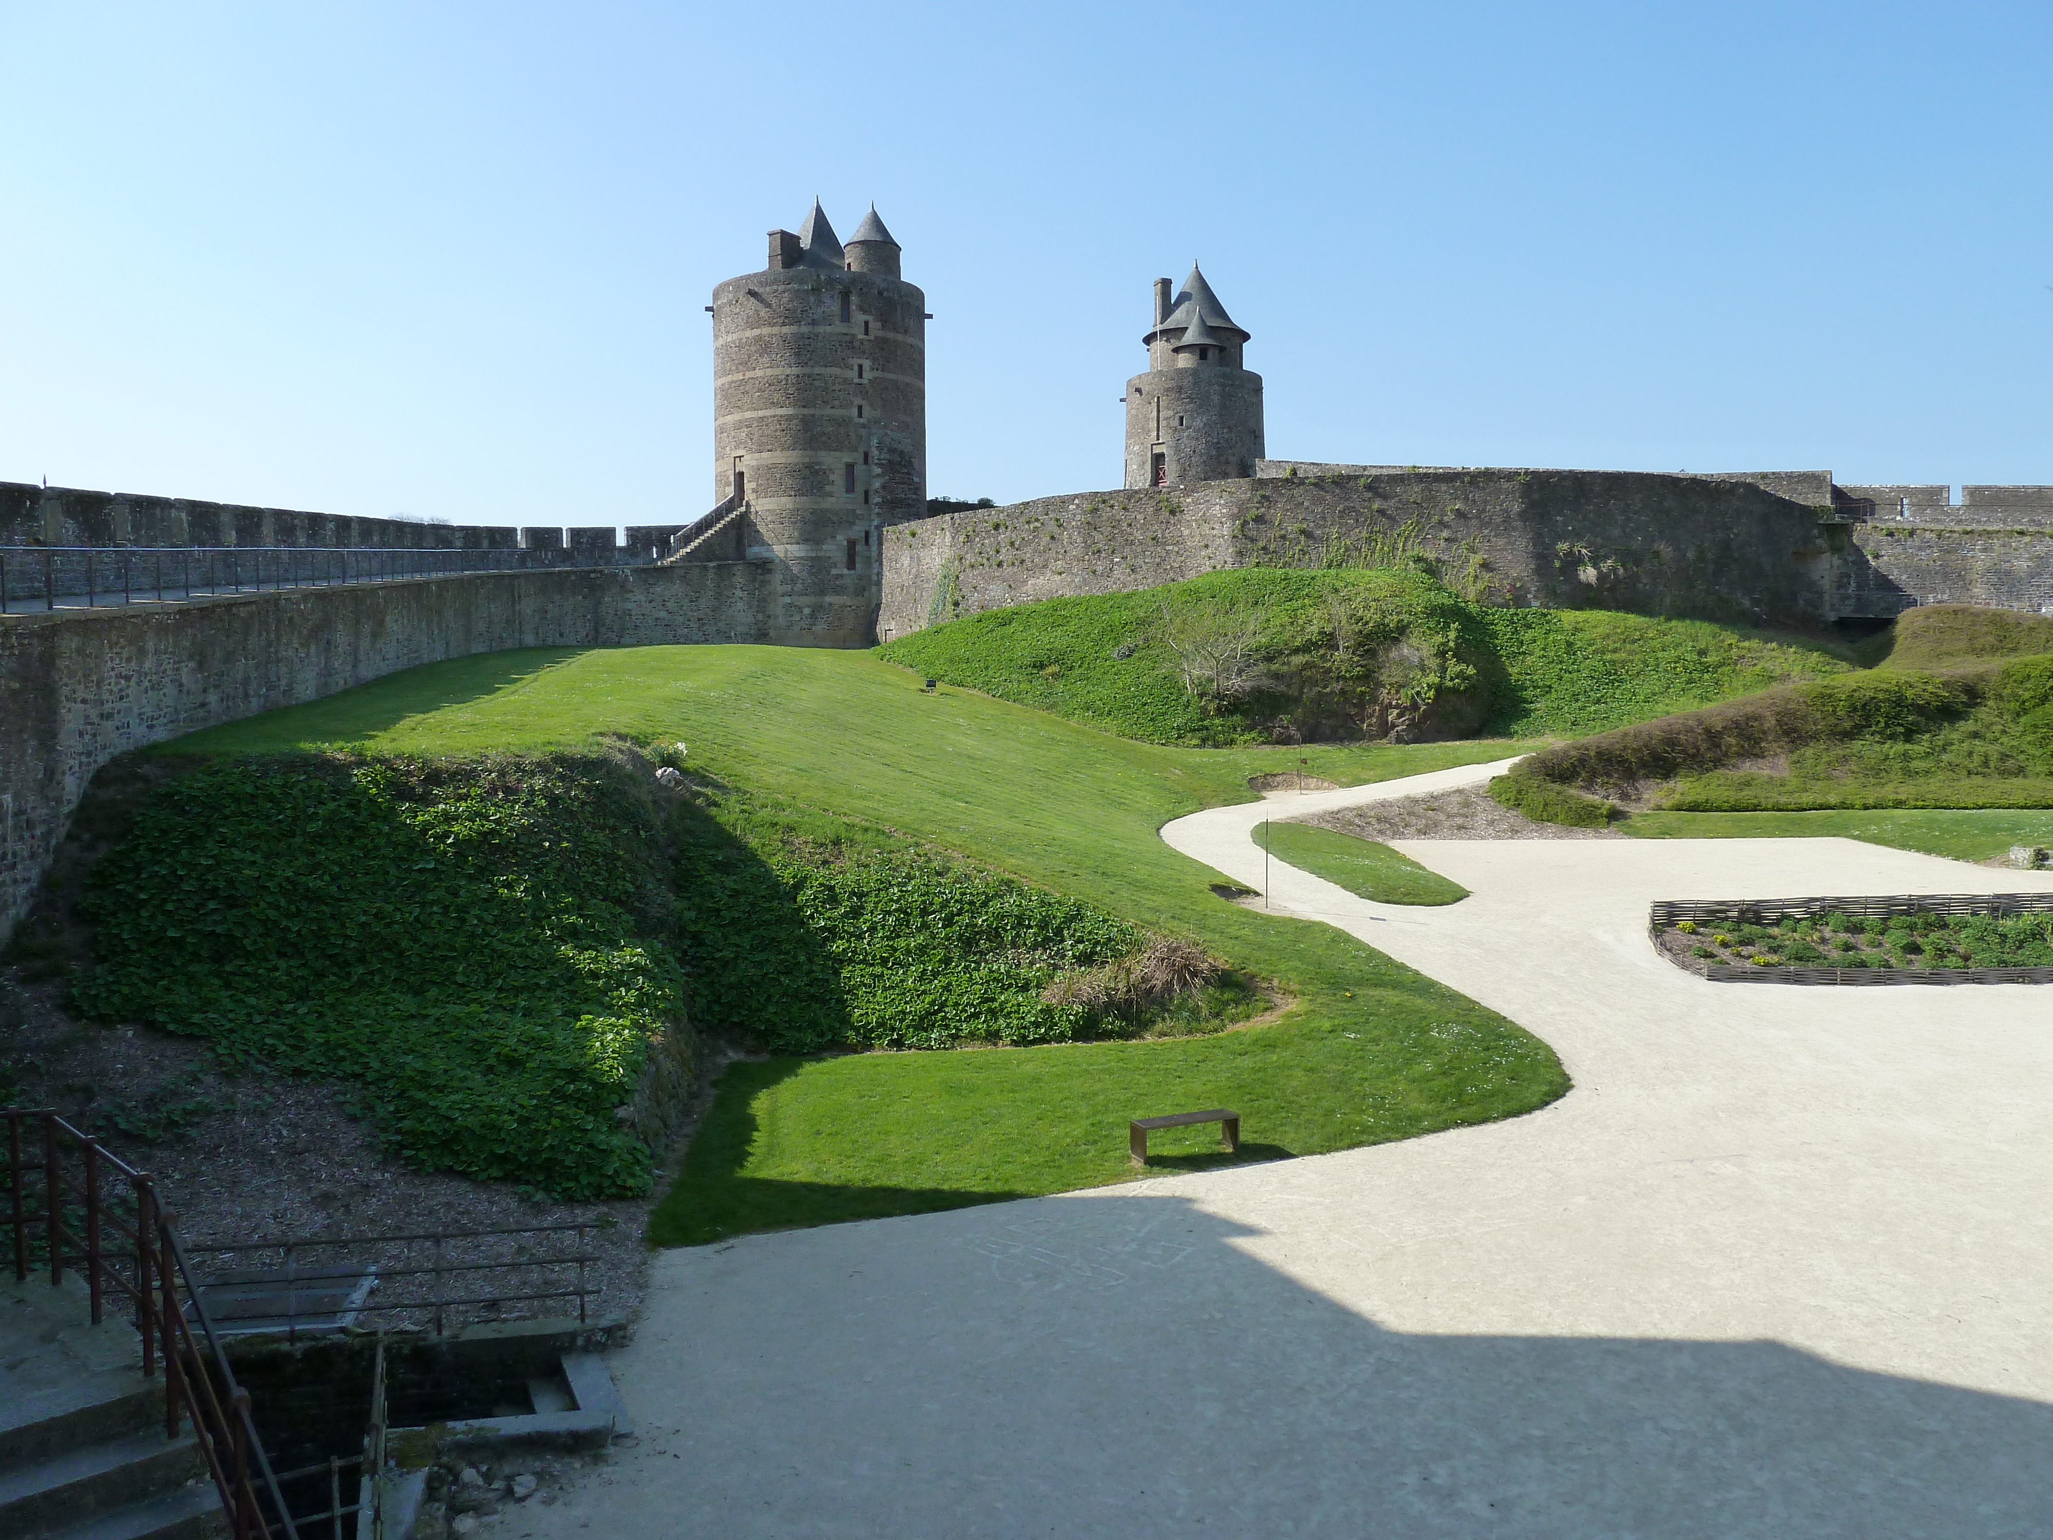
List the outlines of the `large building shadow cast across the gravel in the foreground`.
{"label": "large building shadow cast across the gravel in the foreground", "polygon": [[[1347,1230],[1297,1250],[1373,1275],[1394,1246]],[[1778,1341],[1390,1331],[1250,1257],[1254,1234],[1107,1193],[675,1253],[643,1329],[661,1347],[620,1363],[659,1433],[608,1515],[706,1536],[2053,1532],[2037,1400]],[[1462,1240],[1427,1244],[1464,1267]],[[1710,1320],[1720,1263],[1700,1267]],[[1552,1310],[1517,1289],[1493,1310]]]}

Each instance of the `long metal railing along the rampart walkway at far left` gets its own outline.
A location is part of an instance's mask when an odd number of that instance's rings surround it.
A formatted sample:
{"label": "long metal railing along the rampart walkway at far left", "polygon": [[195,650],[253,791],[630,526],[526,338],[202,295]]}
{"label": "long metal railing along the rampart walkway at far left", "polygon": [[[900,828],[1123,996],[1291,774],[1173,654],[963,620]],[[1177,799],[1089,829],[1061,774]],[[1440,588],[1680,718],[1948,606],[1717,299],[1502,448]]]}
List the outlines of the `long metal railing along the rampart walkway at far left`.
{"label": "long metal railing along the rampart walkway at far left", "polygon": [[179,604],[343,583],[462,573],[643,567],[622,546],[546,550],[392,550],[382,546],[0,546],[0,614]]}

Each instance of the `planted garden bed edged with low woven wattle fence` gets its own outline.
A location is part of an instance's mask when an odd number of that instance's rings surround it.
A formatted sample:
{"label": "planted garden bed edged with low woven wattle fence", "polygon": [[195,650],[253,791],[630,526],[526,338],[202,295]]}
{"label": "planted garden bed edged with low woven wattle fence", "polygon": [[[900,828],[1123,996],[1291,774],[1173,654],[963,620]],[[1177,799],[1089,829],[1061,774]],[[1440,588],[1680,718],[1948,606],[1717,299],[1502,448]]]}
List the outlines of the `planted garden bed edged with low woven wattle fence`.
{"label": "planted garden bed edged with low woven wattle fence", "polygon": [[1714,984],[2053,984],[2053,893],[1655,903],[1647,930]]}

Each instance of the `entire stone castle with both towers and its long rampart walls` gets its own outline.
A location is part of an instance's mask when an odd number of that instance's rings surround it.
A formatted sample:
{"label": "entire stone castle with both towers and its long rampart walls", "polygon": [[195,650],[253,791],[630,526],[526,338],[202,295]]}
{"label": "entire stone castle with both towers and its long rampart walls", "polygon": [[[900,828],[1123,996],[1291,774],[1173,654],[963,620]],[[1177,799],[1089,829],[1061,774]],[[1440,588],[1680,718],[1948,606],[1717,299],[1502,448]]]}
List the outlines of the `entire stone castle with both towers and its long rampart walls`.
{"label": "entire stone castle with both towers and its long rampart walls", "polygon": [[1954,503],[1823,470],[1269,460],[1250,333],[1195,267],[1154,283],[1123,485],[1008,507],[930,511],[926,296],[875,209],[842,242],[815,201],[706,310],[714,503],[688,524],[622,538],[0,483],[0,934],[115,754],[450,657],[864,647],[1224,567],[1392,559],[1490,604],[1809,628],[1913,604],[2053,614],[2053,487]]}

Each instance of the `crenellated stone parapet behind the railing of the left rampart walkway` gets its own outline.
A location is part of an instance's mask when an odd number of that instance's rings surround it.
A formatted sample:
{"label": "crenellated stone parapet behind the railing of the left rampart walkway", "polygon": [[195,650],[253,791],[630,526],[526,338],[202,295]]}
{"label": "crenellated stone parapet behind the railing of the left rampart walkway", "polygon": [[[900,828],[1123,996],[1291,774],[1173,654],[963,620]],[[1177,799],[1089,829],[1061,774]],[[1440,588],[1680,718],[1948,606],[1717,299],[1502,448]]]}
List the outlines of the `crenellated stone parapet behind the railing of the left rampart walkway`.
{"label": "crenellated stone parapet behind the railing of the left rampart walkway", "polygon": [[[696,517],[696,513],[692,515]],[[92,493],[0,480],[0,546],[343,546],[386,550],[575,550],[581,565],[651,561],[661,540],[690,524],[612,524],[509,530],[302,513],[287,507],[207,503],[195,497]]]}

